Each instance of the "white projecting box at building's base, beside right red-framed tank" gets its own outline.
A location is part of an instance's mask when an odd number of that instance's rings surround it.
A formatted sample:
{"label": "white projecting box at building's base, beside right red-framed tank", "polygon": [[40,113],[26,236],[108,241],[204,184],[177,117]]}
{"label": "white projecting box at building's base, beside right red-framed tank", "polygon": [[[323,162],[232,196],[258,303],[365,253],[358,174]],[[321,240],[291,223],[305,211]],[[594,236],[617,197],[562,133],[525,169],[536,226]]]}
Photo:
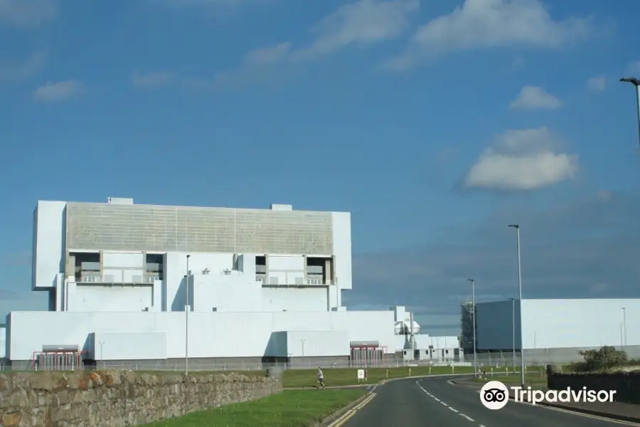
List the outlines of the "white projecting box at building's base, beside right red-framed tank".
{"label": "white projecting box at building's base, beside right red-framed tank", "polygon": [[287,352],[290,357],[348,356],[347,331],[287,332]]}

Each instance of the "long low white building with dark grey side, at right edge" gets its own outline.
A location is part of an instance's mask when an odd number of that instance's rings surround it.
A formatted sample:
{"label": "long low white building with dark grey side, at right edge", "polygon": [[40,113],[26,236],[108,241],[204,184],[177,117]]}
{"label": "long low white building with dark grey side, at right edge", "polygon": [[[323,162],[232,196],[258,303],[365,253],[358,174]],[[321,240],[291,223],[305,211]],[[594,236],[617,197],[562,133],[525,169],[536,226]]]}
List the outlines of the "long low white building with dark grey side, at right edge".
{"label": "long low white building with dark grey side, at right edge", "polygon": [[640,299],[523,299],[476,304],[476,347],[519,353],[528,362],[580,360],[604,345],[640,357]]}

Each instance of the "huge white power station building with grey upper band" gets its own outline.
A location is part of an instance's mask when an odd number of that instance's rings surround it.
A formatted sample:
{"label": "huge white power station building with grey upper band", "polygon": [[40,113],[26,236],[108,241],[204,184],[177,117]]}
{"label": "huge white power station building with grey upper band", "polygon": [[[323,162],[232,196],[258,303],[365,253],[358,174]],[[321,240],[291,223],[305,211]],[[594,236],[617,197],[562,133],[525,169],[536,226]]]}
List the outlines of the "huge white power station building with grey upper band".
{"label": "huge white power station building with grey upper band", "polygon": [[[12,364],[182,359],[186,310],[190,359],[368,362],[406,348],[403,307],[342,305],[346,212],[38,201],[33,227],[32,289],[50,308],[7,316]],[[457,337],[436,340],[458,354]]]}

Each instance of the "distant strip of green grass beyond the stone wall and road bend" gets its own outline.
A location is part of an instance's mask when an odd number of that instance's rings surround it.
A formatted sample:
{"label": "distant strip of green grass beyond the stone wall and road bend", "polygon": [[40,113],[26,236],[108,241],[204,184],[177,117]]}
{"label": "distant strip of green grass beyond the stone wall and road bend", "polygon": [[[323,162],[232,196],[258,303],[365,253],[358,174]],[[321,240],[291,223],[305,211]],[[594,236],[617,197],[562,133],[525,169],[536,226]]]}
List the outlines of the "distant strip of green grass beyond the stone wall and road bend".
{"label": "distant strip of green grass beyond the stone wall and road bend", "polygon": [[[358,383],[358,369],[322,369],[326,386],[352,386]],[[366,384],[375,384],[383,379],[404,378],[407,376],[473,374],[473,367],[400,367],[369,368]],[[317,369],[288,369],[282,376],[282,386],[287,389],[315,387],[318,381]]]}

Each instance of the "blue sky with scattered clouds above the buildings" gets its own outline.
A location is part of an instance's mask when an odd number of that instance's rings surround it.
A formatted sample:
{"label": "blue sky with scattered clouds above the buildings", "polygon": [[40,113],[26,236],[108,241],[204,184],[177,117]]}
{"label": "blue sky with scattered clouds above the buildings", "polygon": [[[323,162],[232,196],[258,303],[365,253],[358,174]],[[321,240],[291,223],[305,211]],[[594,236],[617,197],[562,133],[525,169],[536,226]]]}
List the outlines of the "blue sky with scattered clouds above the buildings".
{"label": "blue sky with scattered clouds above the buildings", "polygon": [[353,213],[351,307],[638,297],[640,3],[0,0],[0,313],[38,199]]}

